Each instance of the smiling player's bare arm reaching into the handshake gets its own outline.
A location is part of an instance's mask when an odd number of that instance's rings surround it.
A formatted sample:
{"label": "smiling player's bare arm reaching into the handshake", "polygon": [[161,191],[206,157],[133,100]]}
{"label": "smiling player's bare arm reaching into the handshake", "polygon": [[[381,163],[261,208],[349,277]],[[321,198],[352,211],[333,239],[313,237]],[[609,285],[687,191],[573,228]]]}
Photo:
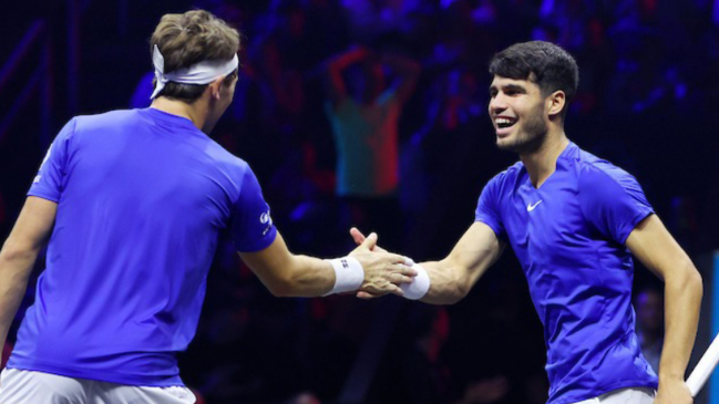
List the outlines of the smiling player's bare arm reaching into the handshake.
{"label": "smiling player's bare arm reaching into the handshake", "polygon": [[[355,242],[364,241],[359,230],[350,230]],[[431,304],[453,304],[462,300],[492,263],[504,251],[494,230],[475,221],[464,232],[452,252],[441,261],[420,262],[430,277],[430,290],[421,301]],[[370,293],[359,293],[360,298],[371,298]]]}

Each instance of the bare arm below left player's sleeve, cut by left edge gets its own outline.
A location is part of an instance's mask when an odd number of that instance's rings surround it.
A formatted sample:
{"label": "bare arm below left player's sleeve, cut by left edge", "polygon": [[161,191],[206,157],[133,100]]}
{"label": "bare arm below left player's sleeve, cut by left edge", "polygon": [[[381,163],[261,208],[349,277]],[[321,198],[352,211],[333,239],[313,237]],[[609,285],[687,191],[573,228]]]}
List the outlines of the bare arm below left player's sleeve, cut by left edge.
{"label": "bare arm below left player's sleeve, cut by left edge", "polygon": [[58,204],[29,197],[0,251],[0,341],[3,345],[38,253],[52,231],[57,211]]}

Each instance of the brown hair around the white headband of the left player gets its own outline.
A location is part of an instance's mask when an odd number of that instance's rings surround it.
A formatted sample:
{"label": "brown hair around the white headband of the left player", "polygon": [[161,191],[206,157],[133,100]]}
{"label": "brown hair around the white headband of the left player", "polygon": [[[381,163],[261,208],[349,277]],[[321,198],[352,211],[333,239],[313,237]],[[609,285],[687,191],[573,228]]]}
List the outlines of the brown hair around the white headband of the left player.
{"label": "brown hair around the white headband of the left player", "polygon": [[[163,15],[150,40],[151,55],[155,45],[165,59],[164,73],[170,73],[206,60],[230,60],[239,51],[240,39],[236,29],[213,13],[192,10],[184,14]],[[226,79],[234,79],[236,75],[237,71],[228,74]],[[193,103],[202,96],[205,89],[207,84],[168,82],[157,96]]]}

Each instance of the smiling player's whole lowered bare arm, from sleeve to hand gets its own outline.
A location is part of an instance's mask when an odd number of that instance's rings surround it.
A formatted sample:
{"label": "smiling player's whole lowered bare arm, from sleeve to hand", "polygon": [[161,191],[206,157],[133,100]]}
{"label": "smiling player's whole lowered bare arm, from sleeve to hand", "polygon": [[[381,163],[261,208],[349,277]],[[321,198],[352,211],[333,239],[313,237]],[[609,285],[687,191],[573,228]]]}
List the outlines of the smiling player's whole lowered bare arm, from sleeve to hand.
{"label": "smiling player's whole lowered bare arm, from sleeve to hand", "polygon": [[684,377],[697,335],[701,276],[656,215],[639,222],[629,234],[626,245],[665,282],[666,331],[656,403],[691,403]]}

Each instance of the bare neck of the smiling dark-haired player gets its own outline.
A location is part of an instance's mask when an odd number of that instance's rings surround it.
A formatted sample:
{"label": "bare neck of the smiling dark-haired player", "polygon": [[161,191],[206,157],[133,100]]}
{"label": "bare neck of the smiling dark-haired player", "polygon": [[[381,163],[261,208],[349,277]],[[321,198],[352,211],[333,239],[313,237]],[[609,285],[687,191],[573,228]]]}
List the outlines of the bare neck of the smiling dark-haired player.
{"label": "bare neck of the smiling dark-haired player", "polygon": [[520,154],[520,159],[524,163],[527,173],[530,174],[530,180],[532,185],[536,188],[541,187],[542,184],[556,170],[557,168],[557,158],[566,146],[569,144],[569,139],[564,134],[564,130],[558,127],[554,131],[549,131],[542,145],[538,148],[532,152]]}

